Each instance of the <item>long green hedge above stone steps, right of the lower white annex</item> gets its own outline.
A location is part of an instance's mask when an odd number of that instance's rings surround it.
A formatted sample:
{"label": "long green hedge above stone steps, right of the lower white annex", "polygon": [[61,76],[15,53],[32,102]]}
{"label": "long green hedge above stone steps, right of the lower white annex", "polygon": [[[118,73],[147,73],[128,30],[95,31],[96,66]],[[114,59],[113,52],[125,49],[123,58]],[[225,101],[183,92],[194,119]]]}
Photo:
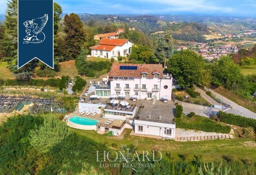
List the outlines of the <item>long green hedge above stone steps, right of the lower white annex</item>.
{"label": "long green hedge above stone steps, right of the lower white annex", "polygon": [[197,123],[197,124],[191,124],[191,123],[184,123],[180,119],[175,119],[176,127],[184,128],[184,129],[195,129],[195,130],[201,130],[205,132],[217,132],[217,133],[225,133],[228,134],[231,130],[230,126],[224,126],[221,124],[218,124],[214,121],[205,120],[204,122]]}

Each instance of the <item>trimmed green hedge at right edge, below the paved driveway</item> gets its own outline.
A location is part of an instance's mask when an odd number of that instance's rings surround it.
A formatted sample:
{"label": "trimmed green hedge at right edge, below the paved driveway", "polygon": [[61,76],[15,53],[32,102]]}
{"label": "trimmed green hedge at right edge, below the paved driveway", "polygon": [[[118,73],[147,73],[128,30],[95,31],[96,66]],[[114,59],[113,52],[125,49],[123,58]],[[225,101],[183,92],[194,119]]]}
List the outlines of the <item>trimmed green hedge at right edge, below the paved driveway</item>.
{"label": "trimmed green hedge at right edge, below the paved driveway", "polygon": [[221,122],[230,124],[230,125],[237,125],[241,127],[249,127],[252,126],[256,129],[256,120],[252,118],[246,118],[240,115],[235,114],[227,114],[225,112],[220,111],[219,117]]}

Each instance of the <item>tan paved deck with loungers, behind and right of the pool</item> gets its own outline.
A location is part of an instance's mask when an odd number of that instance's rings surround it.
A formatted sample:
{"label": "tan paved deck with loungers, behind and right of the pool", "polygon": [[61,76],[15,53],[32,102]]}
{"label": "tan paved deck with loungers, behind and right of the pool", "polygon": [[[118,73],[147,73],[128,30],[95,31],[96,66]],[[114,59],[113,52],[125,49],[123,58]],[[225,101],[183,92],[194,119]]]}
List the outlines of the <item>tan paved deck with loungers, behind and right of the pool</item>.
{"label": "tan paved deck with loungers, behind and right of the pool", "polygon": [[72,118],[72,117],[82,117],[82,118],[87,118],[87,119],[93,119],[93,120],[97,120],[98,123],[96,124],[97,126],[105,126],[105,127],[115,127],[115,128],[120,128],[122,125],[125,124],[125,121],[123,120],[116,120],[114,119],[113,123],[111,123],[110,125],[105,125],[105,123],[109,120],[108,118],[103,118],[101,114],[96,114],[93,117],[93,113],[91,113],[90,115],[87,116],[86,113],[84,113],[83,115],[81,115],[80,113],[70,113],[68,114],[68,119]]}

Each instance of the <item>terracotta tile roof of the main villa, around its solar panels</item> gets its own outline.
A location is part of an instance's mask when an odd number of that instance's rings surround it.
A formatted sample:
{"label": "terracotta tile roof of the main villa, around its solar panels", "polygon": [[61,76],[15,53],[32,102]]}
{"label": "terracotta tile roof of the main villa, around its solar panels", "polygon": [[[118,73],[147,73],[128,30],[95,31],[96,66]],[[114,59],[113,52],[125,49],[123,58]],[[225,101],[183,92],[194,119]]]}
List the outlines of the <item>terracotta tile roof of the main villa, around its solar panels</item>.
{"label": "terracotta tile roof of the main villa, around its solar panels", "polygon": [[[137,66],[137,70],[120,70],[120,66]],[[147,77],[153,78],[153,72],[159,73],[162,78],[163,68],[161,64],[129,64],[129,63],[113,63],[109,77],[123,76],[123,77],[141,77],[141,73],[147,71]]]}

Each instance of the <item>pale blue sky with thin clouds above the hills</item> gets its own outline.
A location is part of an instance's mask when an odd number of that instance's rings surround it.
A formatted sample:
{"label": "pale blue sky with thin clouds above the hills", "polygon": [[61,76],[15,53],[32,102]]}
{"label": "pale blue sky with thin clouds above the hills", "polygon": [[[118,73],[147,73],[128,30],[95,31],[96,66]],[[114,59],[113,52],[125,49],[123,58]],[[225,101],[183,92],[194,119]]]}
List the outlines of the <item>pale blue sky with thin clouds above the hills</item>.
{"label": "pale blue sky with thin clouds above the hills", "polygon": [[[0,14],[7,0],[0,0]],[[64,13],[256,16],[256,0],[55,0]]]}

